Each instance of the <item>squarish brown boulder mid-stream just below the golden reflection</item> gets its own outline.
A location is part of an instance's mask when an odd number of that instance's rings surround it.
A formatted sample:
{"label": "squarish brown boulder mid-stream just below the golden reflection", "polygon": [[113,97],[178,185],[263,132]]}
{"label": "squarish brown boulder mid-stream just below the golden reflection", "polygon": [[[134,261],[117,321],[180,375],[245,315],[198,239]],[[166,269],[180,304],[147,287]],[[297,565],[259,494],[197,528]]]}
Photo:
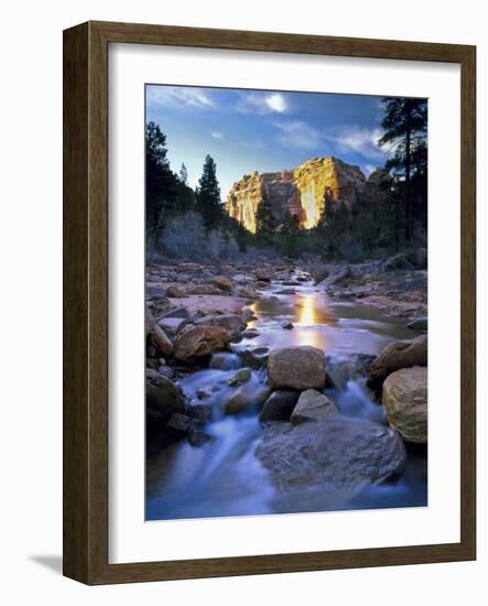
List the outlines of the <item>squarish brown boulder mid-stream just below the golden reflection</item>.
{"label": "squarish brown boulder mid-stream just below the golden reflection", "polygon": [[324,351],[308,345],[273,349],[268,359],[268,377],[273,389],[324,389]]}

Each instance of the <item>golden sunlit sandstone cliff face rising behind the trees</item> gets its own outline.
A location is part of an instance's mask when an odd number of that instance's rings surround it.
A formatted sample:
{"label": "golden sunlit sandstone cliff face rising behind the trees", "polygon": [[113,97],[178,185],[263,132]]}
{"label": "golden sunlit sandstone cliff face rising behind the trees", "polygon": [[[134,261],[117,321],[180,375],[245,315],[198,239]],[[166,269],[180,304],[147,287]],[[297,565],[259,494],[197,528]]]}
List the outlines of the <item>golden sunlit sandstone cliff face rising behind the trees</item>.
{"label": "golden sunlit sandstone cliff face rising behind the trees", "polygon": [[278,224],[289,210],[300,218],[301,228],[311,229],[317,225],[325,204],[344,202],[351,208],[361,199],[366,184],[358,166],[334,156],[315,158],[293,171],[245,175],[230,190],[226,209],[256,232],[256,212],[265,192]]}

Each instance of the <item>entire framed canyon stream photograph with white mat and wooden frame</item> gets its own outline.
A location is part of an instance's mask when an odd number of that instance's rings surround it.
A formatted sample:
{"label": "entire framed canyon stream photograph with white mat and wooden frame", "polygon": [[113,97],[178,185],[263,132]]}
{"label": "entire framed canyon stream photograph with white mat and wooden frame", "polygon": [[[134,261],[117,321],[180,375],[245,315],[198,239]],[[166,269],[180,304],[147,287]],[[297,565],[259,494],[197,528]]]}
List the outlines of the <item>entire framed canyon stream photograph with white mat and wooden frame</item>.
{"label": "entire framed canyon stream photograph with white mat and wooden frame", "polygon": [[476,558],[475,57],[64,32],[65,575]]}

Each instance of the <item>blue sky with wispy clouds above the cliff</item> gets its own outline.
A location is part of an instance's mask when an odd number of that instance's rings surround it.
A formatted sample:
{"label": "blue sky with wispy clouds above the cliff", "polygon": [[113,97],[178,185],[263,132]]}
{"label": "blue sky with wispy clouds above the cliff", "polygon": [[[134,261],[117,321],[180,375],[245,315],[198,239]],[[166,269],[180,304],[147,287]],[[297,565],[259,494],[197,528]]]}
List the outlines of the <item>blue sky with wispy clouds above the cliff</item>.
{"label": "blue sky with wispy clouds above the cliff", "polygon": [[381,97],[185,86],[147,86],[147,121],[166,134],[173,171],[197,184],[205,155],[217,163],[223,201],[251,171],[290,170],[335,155],[368,175],[384,164]]}

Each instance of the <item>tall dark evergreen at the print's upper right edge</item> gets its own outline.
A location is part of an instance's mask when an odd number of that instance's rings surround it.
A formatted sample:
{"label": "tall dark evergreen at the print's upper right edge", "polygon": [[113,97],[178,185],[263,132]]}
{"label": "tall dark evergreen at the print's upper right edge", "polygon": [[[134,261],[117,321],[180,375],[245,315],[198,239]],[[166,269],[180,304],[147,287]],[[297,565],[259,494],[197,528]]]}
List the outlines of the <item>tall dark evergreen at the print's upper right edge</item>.
{"label": "tall dark evergreen at the print's upper right edge", "polygon": [[[415,152],[426,149],[427,130],[427,101],[425,99],[412,99],[403,97],[386,97],[383,99],[384,117],[381,126],[386,132],[378,141],[379,145],[391,145],[392,158],[387,162],[387,169],[393,170],[399,177],[401,186],[398,194],[403,198],[404,204],[404,230],[408,244],[413,235],[414,220],[423,217],[415,217],[415,212],[426,215],[425,208],[420,206],[419,199],[425,197],[423,183],[415,181]],[[416,191],[420,188],[419,191]],[[420,197],[419,197],[420,196]],[[398,225],[401,228],[401,212],[397,210]]]}

